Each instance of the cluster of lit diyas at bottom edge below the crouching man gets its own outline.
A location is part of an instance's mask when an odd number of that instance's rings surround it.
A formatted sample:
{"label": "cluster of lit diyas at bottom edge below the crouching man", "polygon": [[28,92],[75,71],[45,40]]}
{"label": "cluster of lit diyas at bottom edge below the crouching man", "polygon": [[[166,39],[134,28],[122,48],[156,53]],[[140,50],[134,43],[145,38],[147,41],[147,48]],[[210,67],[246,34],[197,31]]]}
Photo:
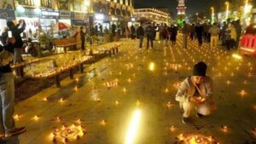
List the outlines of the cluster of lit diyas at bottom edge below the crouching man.
{"label": "cluster of lit diyas at bottom edge below the crouching man", "polygon": [[201,134],[181,134],[177,136],[178,144],[218,144],[212,136],[201,135]]}

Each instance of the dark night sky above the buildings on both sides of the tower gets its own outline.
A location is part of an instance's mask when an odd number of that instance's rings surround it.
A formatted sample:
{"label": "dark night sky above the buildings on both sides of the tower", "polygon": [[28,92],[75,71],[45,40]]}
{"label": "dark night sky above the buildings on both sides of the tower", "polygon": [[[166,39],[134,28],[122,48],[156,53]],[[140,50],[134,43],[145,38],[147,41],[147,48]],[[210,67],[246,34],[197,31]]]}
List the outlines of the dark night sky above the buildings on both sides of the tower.
{"label": "dark night sky above the buildings on both sides of the tower", "polygon": [[[135,8],[158,8],[169,7],[172,10],[172,16],[177,14],[177,0],[134,0]],[[187,0],[187,14],[196,12],[204,12],[207,9],[210,11],[210,7],[213,4],[218,4],[219,0]]]}

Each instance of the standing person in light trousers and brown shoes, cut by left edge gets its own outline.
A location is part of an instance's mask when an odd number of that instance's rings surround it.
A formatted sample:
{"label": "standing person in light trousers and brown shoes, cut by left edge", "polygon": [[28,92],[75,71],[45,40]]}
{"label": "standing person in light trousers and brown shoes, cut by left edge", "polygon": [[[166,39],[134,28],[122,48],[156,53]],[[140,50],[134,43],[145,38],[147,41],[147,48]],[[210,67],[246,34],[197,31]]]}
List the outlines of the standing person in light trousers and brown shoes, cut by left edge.
{"label": "standing person in light trousers and brown shoes, cut by left edge", "polygon": [[15,38],[8,37],[6,45],[0,45],[0,139],[13,135],[20,135],[26,131],[25,127],[16,128],[15,119],[15,77],[10,64],[15,50]]}

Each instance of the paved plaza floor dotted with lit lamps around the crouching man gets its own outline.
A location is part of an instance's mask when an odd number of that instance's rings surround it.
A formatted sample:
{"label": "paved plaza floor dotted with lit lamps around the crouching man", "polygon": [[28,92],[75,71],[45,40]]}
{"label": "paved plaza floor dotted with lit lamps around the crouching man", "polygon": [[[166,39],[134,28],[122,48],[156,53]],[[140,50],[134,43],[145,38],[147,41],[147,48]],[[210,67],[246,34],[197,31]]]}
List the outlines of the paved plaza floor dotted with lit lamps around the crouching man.
{"label": "paved plaza floor dotted with lit lamps around the crouching man", "polygon": [[[212,136],[221,144],[256,141],[256,59],[232,56],[236,50],[189,49],[177,45],[138,49],[124,40],[119,54],[88,65],[83,74],[65,78],[19,101],[15,121],[26,133],[9,141],[20,144],[172,144],[180,134]],[[145,44],[145,43],[144,43]],[[192,114],[182,123],[175,101],[177,84],[206,61],[214,84],[217,110],[207,118]],[[200,142],[198,142],[200,143]]]}

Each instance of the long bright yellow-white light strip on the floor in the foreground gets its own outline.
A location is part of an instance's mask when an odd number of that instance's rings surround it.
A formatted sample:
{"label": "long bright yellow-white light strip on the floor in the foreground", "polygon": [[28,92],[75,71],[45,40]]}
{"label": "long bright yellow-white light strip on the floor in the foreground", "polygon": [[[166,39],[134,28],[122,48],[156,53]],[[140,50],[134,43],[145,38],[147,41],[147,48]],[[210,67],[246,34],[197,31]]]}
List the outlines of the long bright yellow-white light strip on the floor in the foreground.
{"label": "long bright yellow-white light strip on the floor in the foreground", "polygon": [[131,118],[131,123],[127,131],[127,135],[125,137],[125,144],[134,144],[134,141],[137,135],[137,130],[139,128],[139,124],[141,121],[141,117],[142,117],[142,112],[140,110],[136,110],[133,113],[133,116]]}

